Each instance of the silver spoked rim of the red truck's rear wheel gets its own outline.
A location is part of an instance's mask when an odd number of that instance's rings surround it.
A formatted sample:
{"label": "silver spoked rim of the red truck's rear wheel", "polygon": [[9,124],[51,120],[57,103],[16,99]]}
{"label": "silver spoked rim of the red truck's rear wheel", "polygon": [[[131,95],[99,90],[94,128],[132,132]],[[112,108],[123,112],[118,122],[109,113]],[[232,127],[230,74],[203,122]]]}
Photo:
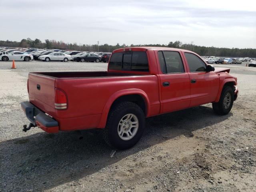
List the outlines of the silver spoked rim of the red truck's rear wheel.
{"label": "silver spoked rim of the red truck's rear wheel", "polygon": [[118,124],[117,132],[118,136],[122,140],[130,140],[132,139],[139,128],[139,120],[134,114],[126,114],[121,118]]}

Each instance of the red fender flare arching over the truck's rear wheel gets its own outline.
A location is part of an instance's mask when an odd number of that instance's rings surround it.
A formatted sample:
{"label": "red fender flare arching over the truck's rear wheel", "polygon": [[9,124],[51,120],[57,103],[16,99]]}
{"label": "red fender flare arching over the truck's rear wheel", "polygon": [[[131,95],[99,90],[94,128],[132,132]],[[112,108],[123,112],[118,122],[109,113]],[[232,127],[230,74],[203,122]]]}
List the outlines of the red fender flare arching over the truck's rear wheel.
{"label": "red fender flare arching over the truck's rear wheel", "polygon": [[150,102],[149,102],[149,99],[148,99],[148,96],[147,96],[146,92],[144,92],[141,89],[120,90],[120,91],[115,92],[114,94],[112,94],[110,96],[110,98],[108,99],[108,101],[106,102],[106,104],[103,108],[101,118],[100,118],[100,122],[99,122],[97,128],[105,128],[110,107],[112,106],[112,104],[114,103],[114,101],[116,99],[118,99],[121,96],[133,95],[133,94],[137,94],[137,95],[142,96],[142,98],[144,99],[145,104],[146,104],[146,117],[149,116],[149,114],[150,114]]}

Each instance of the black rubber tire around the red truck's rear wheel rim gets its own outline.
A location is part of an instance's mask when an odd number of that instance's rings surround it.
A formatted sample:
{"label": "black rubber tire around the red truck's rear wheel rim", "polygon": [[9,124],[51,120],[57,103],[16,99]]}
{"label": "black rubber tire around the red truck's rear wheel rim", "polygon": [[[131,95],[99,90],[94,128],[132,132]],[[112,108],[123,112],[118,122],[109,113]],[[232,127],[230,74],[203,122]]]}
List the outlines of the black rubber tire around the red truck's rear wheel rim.
{"label": "black rubber tire around the red truck's rear wheel rim", "polygon": [[[124,116],[134,114],[138,119],[138,128],[134,136],[129,140],[123,140],[119,136],[119,123]],[[132,128],[129,127],[130,130]],[[134,146],[142,137],[145,130],[145,115],[142,109],[132,102],[121,102],[113,106],[108,114],[108,120],[105,129],[103,130],[104,140],[110,147],[124,150]],[[124,135],[124,134],[123,134]],[[127,136],[127,135],[126,135]]]}

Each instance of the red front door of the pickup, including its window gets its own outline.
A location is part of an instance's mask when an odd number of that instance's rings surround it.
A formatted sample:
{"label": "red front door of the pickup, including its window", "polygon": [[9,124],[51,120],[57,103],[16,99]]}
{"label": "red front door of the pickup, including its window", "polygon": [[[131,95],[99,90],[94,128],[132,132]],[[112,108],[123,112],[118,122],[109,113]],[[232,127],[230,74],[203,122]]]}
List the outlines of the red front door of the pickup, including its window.
{"label": "red front door of the pickup, including its window", "polygon": [[190,107],[214,102],[219,89],[219,77],[206,72],[206,64],[196,54],[184,52],[190,77]]}

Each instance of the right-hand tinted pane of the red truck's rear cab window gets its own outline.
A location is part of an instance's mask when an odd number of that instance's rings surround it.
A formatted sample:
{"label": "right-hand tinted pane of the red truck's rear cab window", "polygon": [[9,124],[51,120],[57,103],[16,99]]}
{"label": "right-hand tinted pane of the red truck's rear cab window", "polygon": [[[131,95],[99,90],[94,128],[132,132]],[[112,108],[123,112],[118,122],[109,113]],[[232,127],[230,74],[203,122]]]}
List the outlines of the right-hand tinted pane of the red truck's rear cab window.
{"label": "right-hand tinted pane of the red truck's rear cab window", "polygon": [[133,71],[148,71],[148,57],[146,52],[132,53],[132,68]]}

